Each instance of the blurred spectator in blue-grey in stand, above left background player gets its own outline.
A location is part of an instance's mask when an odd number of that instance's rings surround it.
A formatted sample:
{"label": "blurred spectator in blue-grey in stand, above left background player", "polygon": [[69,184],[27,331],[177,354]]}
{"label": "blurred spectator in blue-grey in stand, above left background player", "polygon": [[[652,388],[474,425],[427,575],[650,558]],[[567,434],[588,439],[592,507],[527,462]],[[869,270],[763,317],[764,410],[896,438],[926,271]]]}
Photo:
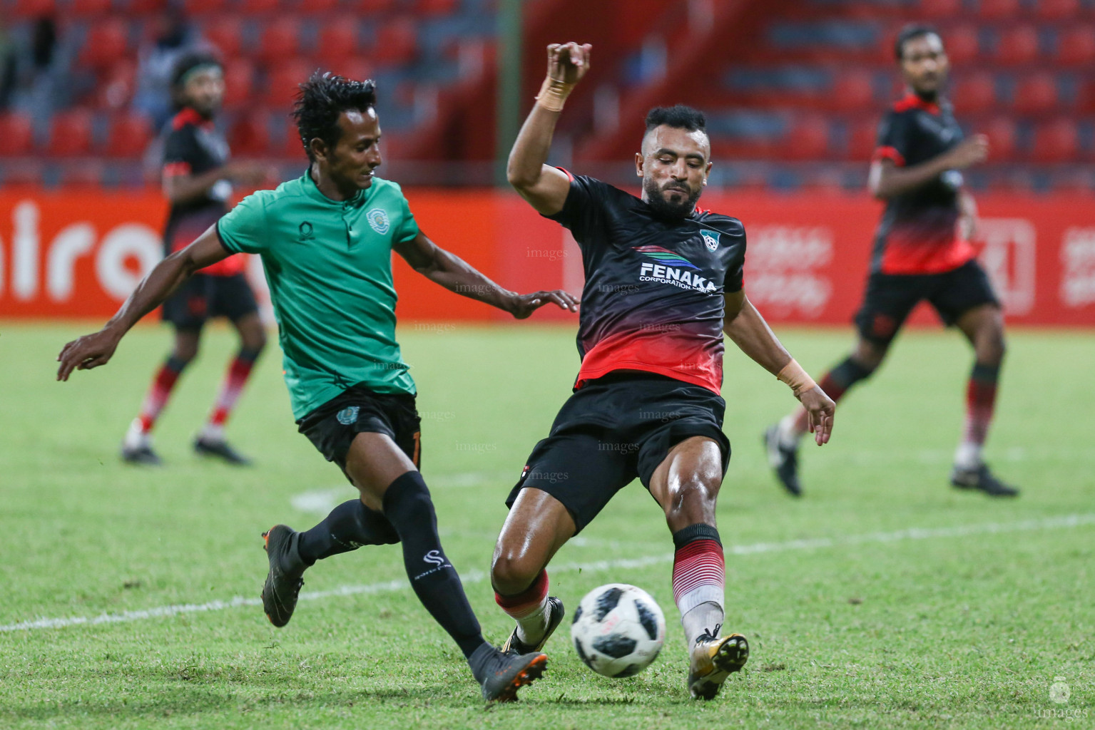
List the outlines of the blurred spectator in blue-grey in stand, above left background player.
{"label": "blurred spectator in blue-grey in stand, above left background player", "polygon": [[186,22],[180,8],[169,8],[155,20],[151,43],[138,50],[137,91],[134,108],[145,113],[155,129],[173,115],[171,73],[178,60],[191,53],[208,50],[198,32]]}

